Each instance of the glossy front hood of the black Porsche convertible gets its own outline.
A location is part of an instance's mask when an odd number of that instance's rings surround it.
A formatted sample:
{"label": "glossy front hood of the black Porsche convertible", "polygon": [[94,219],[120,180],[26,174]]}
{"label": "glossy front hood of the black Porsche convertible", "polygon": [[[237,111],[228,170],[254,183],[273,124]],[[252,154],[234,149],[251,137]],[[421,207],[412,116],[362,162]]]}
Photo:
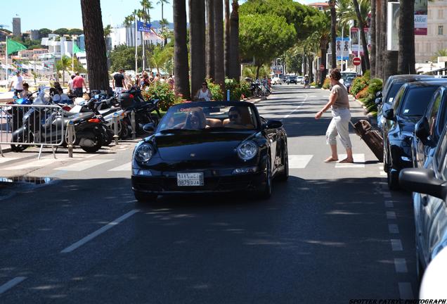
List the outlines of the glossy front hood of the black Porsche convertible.
{"label": "glossy front hood of the black Porsche convertible", "polygon": [[254,134],[256,131],[158,133],[153,141],[163,160],[224,160],[235,156],[241,141]]}

